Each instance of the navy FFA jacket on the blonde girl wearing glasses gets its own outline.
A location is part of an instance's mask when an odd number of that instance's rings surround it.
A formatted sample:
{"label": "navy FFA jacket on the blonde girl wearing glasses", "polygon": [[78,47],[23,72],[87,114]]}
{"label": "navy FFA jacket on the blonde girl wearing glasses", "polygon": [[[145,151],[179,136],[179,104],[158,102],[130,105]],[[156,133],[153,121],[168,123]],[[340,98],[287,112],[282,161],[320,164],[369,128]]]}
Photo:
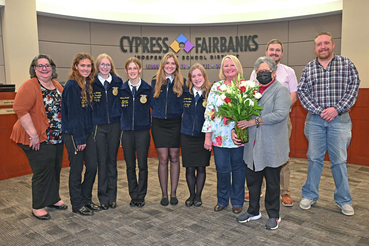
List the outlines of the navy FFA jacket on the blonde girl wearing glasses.
{"label": "navy FFA jacket on the blonde girl wearing glasses", "polygon": [[92,104],[92,124],[103,125],[120,121],[120,108],[118,89],[122,86],[123,80],[115,75],[111,75],[112,79],[108,90],[105,90],[103,84],[95,76],[93,88],[93,104]]}

